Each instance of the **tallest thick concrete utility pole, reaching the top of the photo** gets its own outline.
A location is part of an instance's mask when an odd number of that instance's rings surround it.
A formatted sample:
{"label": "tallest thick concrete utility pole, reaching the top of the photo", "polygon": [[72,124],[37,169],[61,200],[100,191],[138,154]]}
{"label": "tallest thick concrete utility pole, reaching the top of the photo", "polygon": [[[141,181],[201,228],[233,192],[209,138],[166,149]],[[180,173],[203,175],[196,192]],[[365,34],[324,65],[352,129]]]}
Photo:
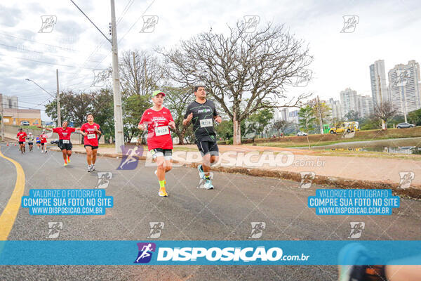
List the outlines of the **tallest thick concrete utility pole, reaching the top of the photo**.
{"label": "tallest thick concrete utility pole, reaching the top of the photo", "polygon": [[120,74],[119,74],[119,50],[117,48],[116,9],[114,0],[111,1],[111,24],[112,24],[112,81],[114,92],[114,132],[116,138],[116,152],[121,152],[124,145],[123,112],[121,110]]}

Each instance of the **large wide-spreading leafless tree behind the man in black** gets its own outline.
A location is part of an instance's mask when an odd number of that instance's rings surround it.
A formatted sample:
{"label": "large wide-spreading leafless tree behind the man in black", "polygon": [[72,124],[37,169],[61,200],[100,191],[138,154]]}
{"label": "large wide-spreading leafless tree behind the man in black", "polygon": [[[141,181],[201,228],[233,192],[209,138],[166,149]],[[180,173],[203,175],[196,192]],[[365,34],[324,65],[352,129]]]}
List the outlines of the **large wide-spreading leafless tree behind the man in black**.
{"label": "large wide-spreading leafless tree behind the man in black", "polygon": [[312,63],[304,41],[295,39],[283,25],[267,24],[246,33],[237,22],[228,34],[211,30],[180,41],[171,49],[157,48],[166,72],[182,86],[203,83],[234,123],[234,144],[241,143],[241,120],[257,110],[300,107],[310,96],[287,96],[286,88],[298,78],[310,79]]}

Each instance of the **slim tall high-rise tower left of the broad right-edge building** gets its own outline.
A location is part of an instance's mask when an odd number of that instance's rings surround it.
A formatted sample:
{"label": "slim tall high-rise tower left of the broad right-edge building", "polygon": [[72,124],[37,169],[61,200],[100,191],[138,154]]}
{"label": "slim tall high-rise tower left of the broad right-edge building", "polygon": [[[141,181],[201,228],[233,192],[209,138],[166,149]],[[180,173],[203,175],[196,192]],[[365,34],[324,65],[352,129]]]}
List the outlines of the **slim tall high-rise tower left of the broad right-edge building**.
{"label": "slim tall high-rise tower left of the broad right-edge building", "polygon": [[385,60],[376,60],[373,65],[370,65],[370,81],[373,106],[390,100],[387,91]]}

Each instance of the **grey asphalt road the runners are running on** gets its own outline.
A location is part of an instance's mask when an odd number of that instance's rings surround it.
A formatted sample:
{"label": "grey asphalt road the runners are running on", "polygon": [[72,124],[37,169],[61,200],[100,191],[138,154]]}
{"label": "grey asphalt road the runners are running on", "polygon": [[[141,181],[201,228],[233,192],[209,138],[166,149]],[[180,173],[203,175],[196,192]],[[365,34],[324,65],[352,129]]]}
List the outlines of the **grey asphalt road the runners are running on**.
{"label": "grey asphalt road the runners are running on", "polygon": [[[249,240],[251,222],[265,222],[261,240],[352,240],[350,222],[366,223],[361,240],[419,240],[421,202],[401,199],[392,216],[316,216],[307,197],[316,188],[275,178],[215,173],[215,190],[198,189],[196,169],[175,167],[166,177],[169,197],[157,195],[154,167],[139,162],[116,170],[121,159],[99,157],[86,171],[85,155],[62,166],[60,152],[1,152],[25,171],[31,188],[95,188],[98,172],[112,172],[106,189],[114,207],[104,216],[32,216],[19,210],[8,240],[51,240],[48,222],[62,222],[56,240],[146,240],[149,222],[163,222],[156,240]],[[15,186],[15,166],[0,157],[0,212]],[[134,257],[135,258],[135,257]],[[0,266],[0,280],[337,280],[336,266]]]}

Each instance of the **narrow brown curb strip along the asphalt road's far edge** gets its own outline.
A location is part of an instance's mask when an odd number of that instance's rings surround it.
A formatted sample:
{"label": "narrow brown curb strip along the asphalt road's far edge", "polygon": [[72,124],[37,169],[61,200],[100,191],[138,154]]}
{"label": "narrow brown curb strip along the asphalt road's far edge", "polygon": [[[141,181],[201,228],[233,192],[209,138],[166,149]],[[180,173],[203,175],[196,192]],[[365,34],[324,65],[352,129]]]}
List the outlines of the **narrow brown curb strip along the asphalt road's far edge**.
{"label": "narrow brown curb strip along the asphalt road's far edge", "polygon": [[[59,148],[50,148],[50,150],[60,152]],[[73,151],[76,154],[86,154],[84,151]],[[102,153],[98,152],[98,156],[110,157],[110,158],[122,158],[122,153]],[[135,156],[140,160],[146,160],[146,156]],[[196,162],[183,162],[173,160],[173,163],[182,164],[182,166],[189,166],[196,168],[199,163]],[[226,166],[213,166],[213,171],[222,171],[230,174],[243,174],[248,176],[260,176],[265,178],[281,178],[284,180],[290,181],[301,181],[300,173],[293,171],[272,171],[268,169],[259,169],[259,168],[243,168],[243,167],[226,167]],[[319,185],[329,185],[333,188],[347,188],[347,189],[391,189],[394,192],[394,195],[400,195],[403,197],[410,197],[413,199],[421,199],[421,185],[411,185],[411,188],[398,188],[399,184],[397,183],[386,183],[380,181],[364,181],[364,180],[353,180],[349,178],[336,178],[332,176],[318,176],[316,175],[312,179],[312,183]]]}

